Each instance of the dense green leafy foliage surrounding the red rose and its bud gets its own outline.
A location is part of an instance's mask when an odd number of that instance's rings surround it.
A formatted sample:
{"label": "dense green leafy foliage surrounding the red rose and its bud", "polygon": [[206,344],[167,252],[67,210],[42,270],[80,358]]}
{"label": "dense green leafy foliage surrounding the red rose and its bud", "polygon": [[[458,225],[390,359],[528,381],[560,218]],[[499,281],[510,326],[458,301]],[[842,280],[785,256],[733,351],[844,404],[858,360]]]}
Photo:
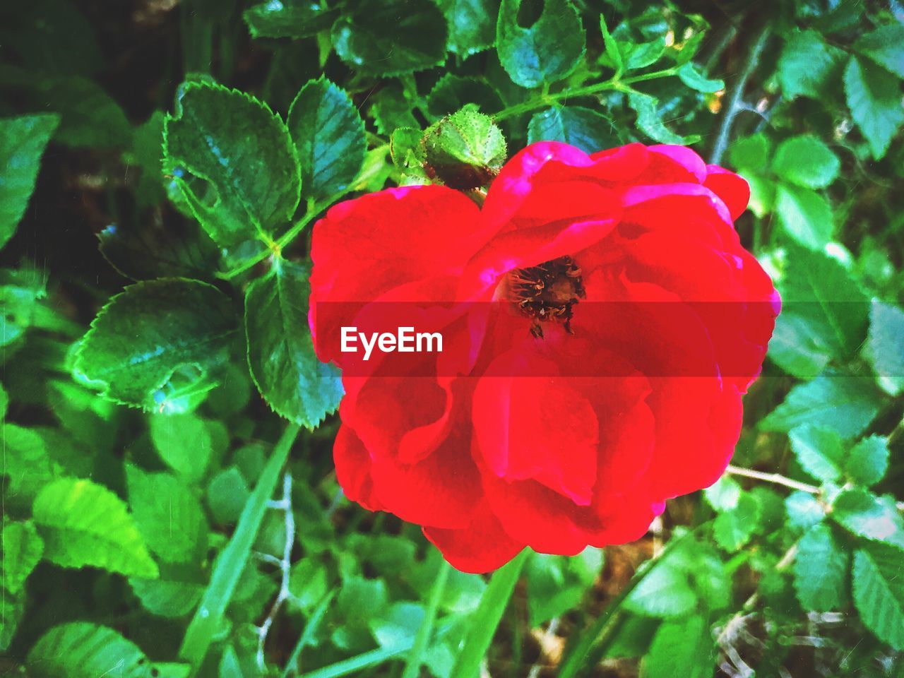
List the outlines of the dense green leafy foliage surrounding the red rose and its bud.
{"label": "dense green leafy foliage surrounding the red rose and its bud", "polygon": [[[0,673],[904,675],[902,21],[5,3]],[[640,140],[735,169],[786,301],[728,475],[635,544],[492,579],[344,500],[304,307],[311,222],[427,182],[420,137],[463,107],[510,155]]]}

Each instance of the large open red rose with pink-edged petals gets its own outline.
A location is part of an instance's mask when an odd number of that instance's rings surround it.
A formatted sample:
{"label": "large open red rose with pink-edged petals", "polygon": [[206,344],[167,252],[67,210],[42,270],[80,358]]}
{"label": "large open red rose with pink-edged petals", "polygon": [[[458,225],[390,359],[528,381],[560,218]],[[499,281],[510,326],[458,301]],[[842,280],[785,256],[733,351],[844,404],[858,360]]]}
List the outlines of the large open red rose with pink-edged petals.
{"label": "large open red rose with pink-edged petals", "polygon": [[[776,290],[733,228],[748,199],[681,146],[538,143],[482,208],[437,185],[334,206],[311,328],[344,368],[345,494],[471,572],[642,536],[724,471],[772,334]],[[340,351],[375,314],[441,331],[442,353]]]}

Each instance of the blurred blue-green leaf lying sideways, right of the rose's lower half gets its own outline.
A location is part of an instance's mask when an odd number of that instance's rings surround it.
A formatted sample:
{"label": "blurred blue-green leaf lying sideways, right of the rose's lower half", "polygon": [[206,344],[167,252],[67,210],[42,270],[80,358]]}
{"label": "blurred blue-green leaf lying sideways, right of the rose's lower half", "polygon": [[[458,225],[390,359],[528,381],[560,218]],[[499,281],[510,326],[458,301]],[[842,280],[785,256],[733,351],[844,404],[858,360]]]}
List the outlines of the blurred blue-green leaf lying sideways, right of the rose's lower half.
{"label": "blurred blue-green leaf lying sideways, right of the rose's lower half", "polygon": [[842,438],[860,435],[879,413],[883,399],[871,380],[821,374],[798,384],[759,428],[787,433],[803,424],[831,428]]}

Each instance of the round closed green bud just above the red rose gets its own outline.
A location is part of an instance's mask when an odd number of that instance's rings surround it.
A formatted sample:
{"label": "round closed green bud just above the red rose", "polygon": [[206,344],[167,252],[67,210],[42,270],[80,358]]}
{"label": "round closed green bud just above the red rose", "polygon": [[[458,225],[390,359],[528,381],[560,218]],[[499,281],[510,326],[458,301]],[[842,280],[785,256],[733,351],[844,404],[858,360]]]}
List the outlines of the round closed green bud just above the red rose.
{"label": "round closed green bud just above the red rose", "polygon": [[420,140],[428,176],[451,188],[489,184],[505,162],[505,138],[493,119],[466,107],[428,127]]}

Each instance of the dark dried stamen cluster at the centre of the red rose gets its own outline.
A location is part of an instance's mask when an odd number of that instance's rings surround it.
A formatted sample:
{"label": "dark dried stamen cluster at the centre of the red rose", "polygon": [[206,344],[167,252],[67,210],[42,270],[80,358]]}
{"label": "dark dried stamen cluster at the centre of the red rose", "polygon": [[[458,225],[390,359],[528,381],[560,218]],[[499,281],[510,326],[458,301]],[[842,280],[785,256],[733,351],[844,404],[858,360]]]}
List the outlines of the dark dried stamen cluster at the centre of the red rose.
{"label": "dark dried stamen cluster at the centre of the red rose", "polygon": [[508,297],[522,315],[532,319],[531,334],[543,338],[541,323],[563,323],[571,332],[573,307],[587,297],[580,268],[570,257],[560,257],[508,274]]}

